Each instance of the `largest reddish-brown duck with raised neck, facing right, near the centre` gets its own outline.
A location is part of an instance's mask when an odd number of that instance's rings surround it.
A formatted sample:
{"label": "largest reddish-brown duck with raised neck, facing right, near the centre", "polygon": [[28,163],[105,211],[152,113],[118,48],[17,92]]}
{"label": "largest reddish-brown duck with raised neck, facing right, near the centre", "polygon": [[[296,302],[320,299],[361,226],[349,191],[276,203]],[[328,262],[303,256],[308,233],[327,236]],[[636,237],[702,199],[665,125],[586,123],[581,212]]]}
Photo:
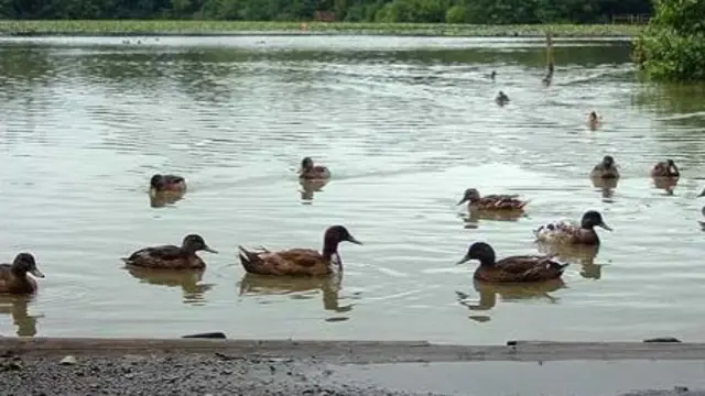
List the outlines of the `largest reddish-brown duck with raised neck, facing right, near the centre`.
{"label": "largest reddish-brown duck with raised neck, facing right, near the centre", "polygon": [[245,271],[259,275],[288,276],[324,276],[333,273],[332,264],[341,268],[338,244],[343,241],[362,244],[343,226],[329,227],[323,238],[323,251],[313,249],[290,249],[270,252],[261,248],[261,252],[240,249],[240,263]]}

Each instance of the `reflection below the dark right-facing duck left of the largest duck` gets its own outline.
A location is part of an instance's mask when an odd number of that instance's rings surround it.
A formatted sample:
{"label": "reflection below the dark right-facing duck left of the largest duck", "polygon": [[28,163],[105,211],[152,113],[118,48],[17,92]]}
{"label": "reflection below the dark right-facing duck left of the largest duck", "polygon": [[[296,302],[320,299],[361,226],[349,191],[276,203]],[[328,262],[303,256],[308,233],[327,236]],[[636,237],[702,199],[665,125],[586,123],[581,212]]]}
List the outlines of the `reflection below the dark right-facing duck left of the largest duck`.
{"label": "reflection below the dark right-facing duck left of the largest duck", "polygon": [[130,275],[142,283],[166,287],[181,287],[184,304],[204,302],[204,295],[213,288],[213,284],[202,284],[205,270],[154,270],[126,266]]}

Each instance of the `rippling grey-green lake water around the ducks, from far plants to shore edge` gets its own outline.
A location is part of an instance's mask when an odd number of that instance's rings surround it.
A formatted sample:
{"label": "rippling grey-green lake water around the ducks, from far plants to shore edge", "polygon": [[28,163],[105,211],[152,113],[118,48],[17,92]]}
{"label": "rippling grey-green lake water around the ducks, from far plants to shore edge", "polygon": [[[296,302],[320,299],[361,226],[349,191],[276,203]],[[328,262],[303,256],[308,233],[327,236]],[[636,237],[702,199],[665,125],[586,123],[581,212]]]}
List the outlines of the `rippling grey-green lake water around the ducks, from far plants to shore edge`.
{"label": "rippling grey-green lake water around the ducks, from far plants to shore edge", "polygon": [[[639,81],[629,44],[356,36],[2,38],[0,260],[31,251],[46,278],[0,299],[4,336],[705,341],[705,90]],[[486,75],[497,70],[495,82]],[[494,97],[511,98],[498,107]],[[604,120],[587,128],[589,111]],[[612,194],[589,169],[612,154]],[[313,156],[333,180],[302,193]],[[671,157],[669,194],[649,168]],[[188,180],[153,208],[153,173]],[[466,219],[468,187],[520,194],[514,221]],[[455,266],[469,243],[538,252],[532,230],[604,213],[595,257],[564,285],[492,288]],[[343,282],[245,276],[238,244],[319,248],[345,224]],[[195,275],[120,262],[199,233]],[[458,294],[465,300],[458,300]]]}

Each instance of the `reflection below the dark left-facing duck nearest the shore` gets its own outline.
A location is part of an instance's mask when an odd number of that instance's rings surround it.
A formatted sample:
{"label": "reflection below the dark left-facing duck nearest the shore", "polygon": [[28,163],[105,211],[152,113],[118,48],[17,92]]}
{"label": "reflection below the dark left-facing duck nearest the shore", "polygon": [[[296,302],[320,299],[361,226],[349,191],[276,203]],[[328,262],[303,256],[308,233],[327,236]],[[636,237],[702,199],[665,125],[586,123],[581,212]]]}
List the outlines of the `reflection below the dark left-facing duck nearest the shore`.
{"label": "reflection below the dark left-facing duck nearest the shore", "polygon": [[[505,302],[545,299],[550,304],[556,304],[558,299],[551,296],[550,293],[565,287],[565,283],[561,278],[529,284],[496,284],[475,279],[473,286],[479,293],[479,300],[474,302],[468,294],[455,292],[458,302],[471,311],[487,311],[497,306],[497,296]],[[480,322],[490,320],[488,316],[471,316],[470,319]]]}

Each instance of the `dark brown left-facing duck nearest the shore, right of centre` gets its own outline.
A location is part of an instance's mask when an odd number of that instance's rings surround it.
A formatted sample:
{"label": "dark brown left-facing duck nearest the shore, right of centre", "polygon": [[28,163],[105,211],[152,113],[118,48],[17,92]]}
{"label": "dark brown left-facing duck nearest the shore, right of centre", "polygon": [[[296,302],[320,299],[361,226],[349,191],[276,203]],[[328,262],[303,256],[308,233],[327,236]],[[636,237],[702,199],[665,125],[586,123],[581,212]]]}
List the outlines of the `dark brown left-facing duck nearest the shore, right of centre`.
{"label": "dark brown left-facing duck nearest the shore, right of centre", "polygon": [[568,265],[554,261],[553,256],[547,255],[516,255],[496,261],[495,250],[485,242],[473,243],[456,265],[470,260],[480,262],[473,277],[489,283],[534,283],[557,279]]}

